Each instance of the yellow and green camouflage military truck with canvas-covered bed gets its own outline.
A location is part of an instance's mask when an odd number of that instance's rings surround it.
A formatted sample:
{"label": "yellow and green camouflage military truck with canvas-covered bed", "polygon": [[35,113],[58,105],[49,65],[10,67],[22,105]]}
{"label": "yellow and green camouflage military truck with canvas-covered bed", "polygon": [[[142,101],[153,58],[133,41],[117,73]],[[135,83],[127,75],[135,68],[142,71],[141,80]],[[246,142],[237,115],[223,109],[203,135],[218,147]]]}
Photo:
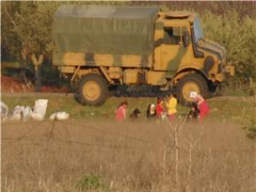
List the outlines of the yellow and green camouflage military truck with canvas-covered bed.
{"label": "yellow and green camouflage military truck with canvas-covered bed", "polygon": [[226,50],[203,36],[190,12],[157,7],[61,6],[53,35],[54,65],[76,86],[81,104],[101,105],[109,88],[143,86],[204,97],[232,74]]}

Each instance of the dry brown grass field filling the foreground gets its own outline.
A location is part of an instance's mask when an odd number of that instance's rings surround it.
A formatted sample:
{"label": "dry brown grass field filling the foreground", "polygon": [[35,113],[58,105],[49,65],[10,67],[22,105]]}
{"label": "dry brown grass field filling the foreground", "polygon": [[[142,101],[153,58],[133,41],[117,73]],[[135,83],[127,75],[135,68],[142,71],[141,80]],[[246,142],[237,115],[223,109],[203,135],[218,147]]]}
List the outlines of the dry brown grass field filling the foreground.
{"label": "dry brown grass field filling the foreground", "polygon": [[2,191],[256,191],[239,125],[186,122],[176,136],[166,122],[6,122]]}

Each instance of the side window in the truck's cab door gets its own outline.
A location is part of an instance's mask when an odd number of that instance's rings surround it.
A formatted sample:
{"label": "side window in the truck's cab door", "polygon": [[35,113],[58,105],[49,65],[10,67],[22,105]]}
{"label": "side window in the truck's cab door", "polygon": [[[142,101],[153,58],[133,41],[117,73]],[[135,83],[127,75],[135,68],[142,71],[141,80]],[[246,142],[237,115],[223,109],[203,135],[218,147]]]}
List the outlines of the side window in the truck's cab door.
{"label": "side window in the truck's cab door", "polygon": [[180,27],[165,27],[164,28],[164,43],[165,44],[180,44],[181,33]]}

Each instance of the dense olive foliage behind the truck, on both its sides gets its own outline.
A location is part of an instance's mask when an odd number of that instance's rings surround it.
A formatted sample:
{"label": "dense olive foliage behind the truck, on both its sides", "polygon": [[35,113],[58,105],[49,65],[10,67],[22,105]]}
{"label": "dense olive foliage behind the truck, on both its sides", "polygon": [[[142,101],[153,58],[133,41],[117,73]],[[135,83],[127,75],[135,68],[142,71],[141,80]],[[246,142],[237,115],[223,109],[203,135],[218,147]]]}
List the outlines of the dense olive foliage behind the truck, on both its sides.
{"label": "dense olive foliage behind the truck, on both its sides", "polygon": [[[203,3],[203,4],[202,4]],[[160,6],[164,10],[191,10],[200,14],[205,37],[227,49],[228,61],[236,67],[236,85],[256,82],[255,2],[2,2],[2,59],[30,62],[31,54],[51,60],[53,16],[62,4]]]}

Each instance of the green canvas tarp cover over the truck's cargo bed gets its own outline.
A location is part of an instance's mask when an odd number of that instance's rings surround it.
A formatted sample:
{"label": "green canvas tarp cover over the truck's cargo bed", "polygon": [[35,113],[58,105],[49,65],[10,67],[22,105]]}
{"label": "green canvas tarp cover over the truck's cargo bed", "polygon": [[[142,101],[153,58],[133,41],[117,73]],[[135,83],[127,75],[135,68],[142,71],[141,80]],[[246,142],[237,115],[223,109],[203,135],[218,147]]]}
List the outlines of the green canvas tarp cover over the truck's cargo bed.
{"label": "green canvas tarp cover over the truck's cargo bed", "polygon": [[57,52],[150,55],[155,7],[61,6],[54,20]]}

